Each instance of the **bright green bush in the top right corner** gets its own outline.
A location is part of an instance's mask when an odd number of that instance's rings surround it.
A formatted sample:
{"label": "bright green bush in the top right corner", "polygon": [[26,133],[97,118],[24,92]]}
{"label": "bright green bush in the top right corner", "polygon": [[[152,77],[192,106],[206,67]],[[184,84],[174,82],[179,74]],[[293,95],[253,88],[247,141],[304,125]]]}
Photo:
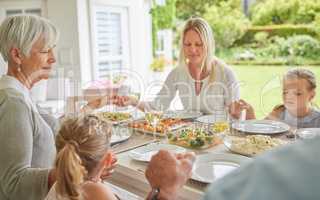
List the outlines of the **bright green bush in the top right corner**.
{"label": "bright green bush in the top right corner", "polygon": [[254,25],[310,24],[320,12],[319,0],[268,0],[251,9]]}

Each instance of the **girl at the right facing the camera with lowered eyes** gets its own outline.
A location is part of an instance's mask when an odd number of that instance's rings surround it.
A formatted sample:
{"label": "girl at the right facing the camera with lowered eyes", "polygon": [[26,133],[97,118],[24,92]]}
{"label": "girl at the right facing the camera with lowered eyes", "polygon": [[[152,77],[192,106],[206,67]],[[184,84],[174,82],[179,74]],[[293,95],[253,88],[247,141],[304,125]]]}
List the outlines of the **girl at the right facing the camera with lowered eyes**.
{"label": "girl at the right facing the camera with lowered eyes", "polygon": [[[279,120],[297,128],[320,127],[320,112],[312,107],[316,95],[315,75],[307,69],[289,70],[283,79],[283,104],[276,106],[266,119]],[[240,100],[235,110],[237,115],[243,109],[247,111],[246,119],[255,119],[252,106]],[[233,113],[235,114],[235,113]]]}

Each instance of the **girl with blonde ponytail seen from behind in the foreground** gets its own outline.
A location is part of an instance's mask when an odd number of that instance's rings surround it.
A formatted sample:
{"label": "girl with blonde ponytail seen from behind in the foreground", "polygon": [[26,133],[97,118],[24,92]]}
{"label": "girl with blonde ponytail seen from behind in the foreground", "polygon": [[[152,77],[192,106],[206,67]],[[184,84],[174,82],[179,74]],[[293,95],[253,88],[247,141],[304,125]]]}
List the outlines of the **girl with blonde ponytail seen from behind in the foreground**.
{"label": "girl with blonde ponytail seen from behind in the foreground", "polygon": [[56,136],[57,181],[46,200],[113,200],[101,183],[104,168],[112,164],[110,126],[94,115],[67,119]]}

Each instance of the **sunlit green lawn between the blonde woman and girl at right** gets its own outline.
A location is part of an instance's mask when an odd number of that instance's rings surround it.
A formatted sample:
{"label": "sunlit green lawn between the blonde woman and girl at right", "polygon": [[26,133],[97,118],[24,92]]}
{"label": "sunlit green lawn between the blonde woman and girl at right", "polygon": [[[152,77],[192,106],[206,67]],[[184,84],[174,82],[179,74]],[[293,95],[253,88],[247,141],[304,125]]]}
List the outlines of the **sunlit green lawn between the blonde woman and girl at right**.
{"label": "sunlit green lawn between the blonde woman and girl at right", "polygon": [[[241,82],[241,98],[254,106],[258,119],[266,116],[272,108],[281,103],[281,76],[289,66],[232,66]],[[320,66],[306,67],[312,70],[319,85]],[[320,86],[315,102],[320,105]]]}

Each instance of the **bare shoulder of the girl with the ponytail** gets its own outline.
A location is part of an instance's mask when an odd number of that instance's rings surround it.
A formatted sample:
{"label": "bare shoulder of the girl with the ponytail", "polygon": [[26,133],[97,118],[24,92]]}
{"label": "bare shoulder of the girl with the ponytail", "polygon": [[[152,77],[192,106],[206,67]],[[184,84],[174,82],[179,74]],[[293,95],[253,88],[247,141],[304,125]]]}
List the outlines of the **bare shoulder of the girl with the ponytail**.
{"label": "bare shoulder of the girl with the ponytail", "polygon": [[116,199],[112,191],[103,183],[88,181],[82,186],[86,199],[110,200]]}

